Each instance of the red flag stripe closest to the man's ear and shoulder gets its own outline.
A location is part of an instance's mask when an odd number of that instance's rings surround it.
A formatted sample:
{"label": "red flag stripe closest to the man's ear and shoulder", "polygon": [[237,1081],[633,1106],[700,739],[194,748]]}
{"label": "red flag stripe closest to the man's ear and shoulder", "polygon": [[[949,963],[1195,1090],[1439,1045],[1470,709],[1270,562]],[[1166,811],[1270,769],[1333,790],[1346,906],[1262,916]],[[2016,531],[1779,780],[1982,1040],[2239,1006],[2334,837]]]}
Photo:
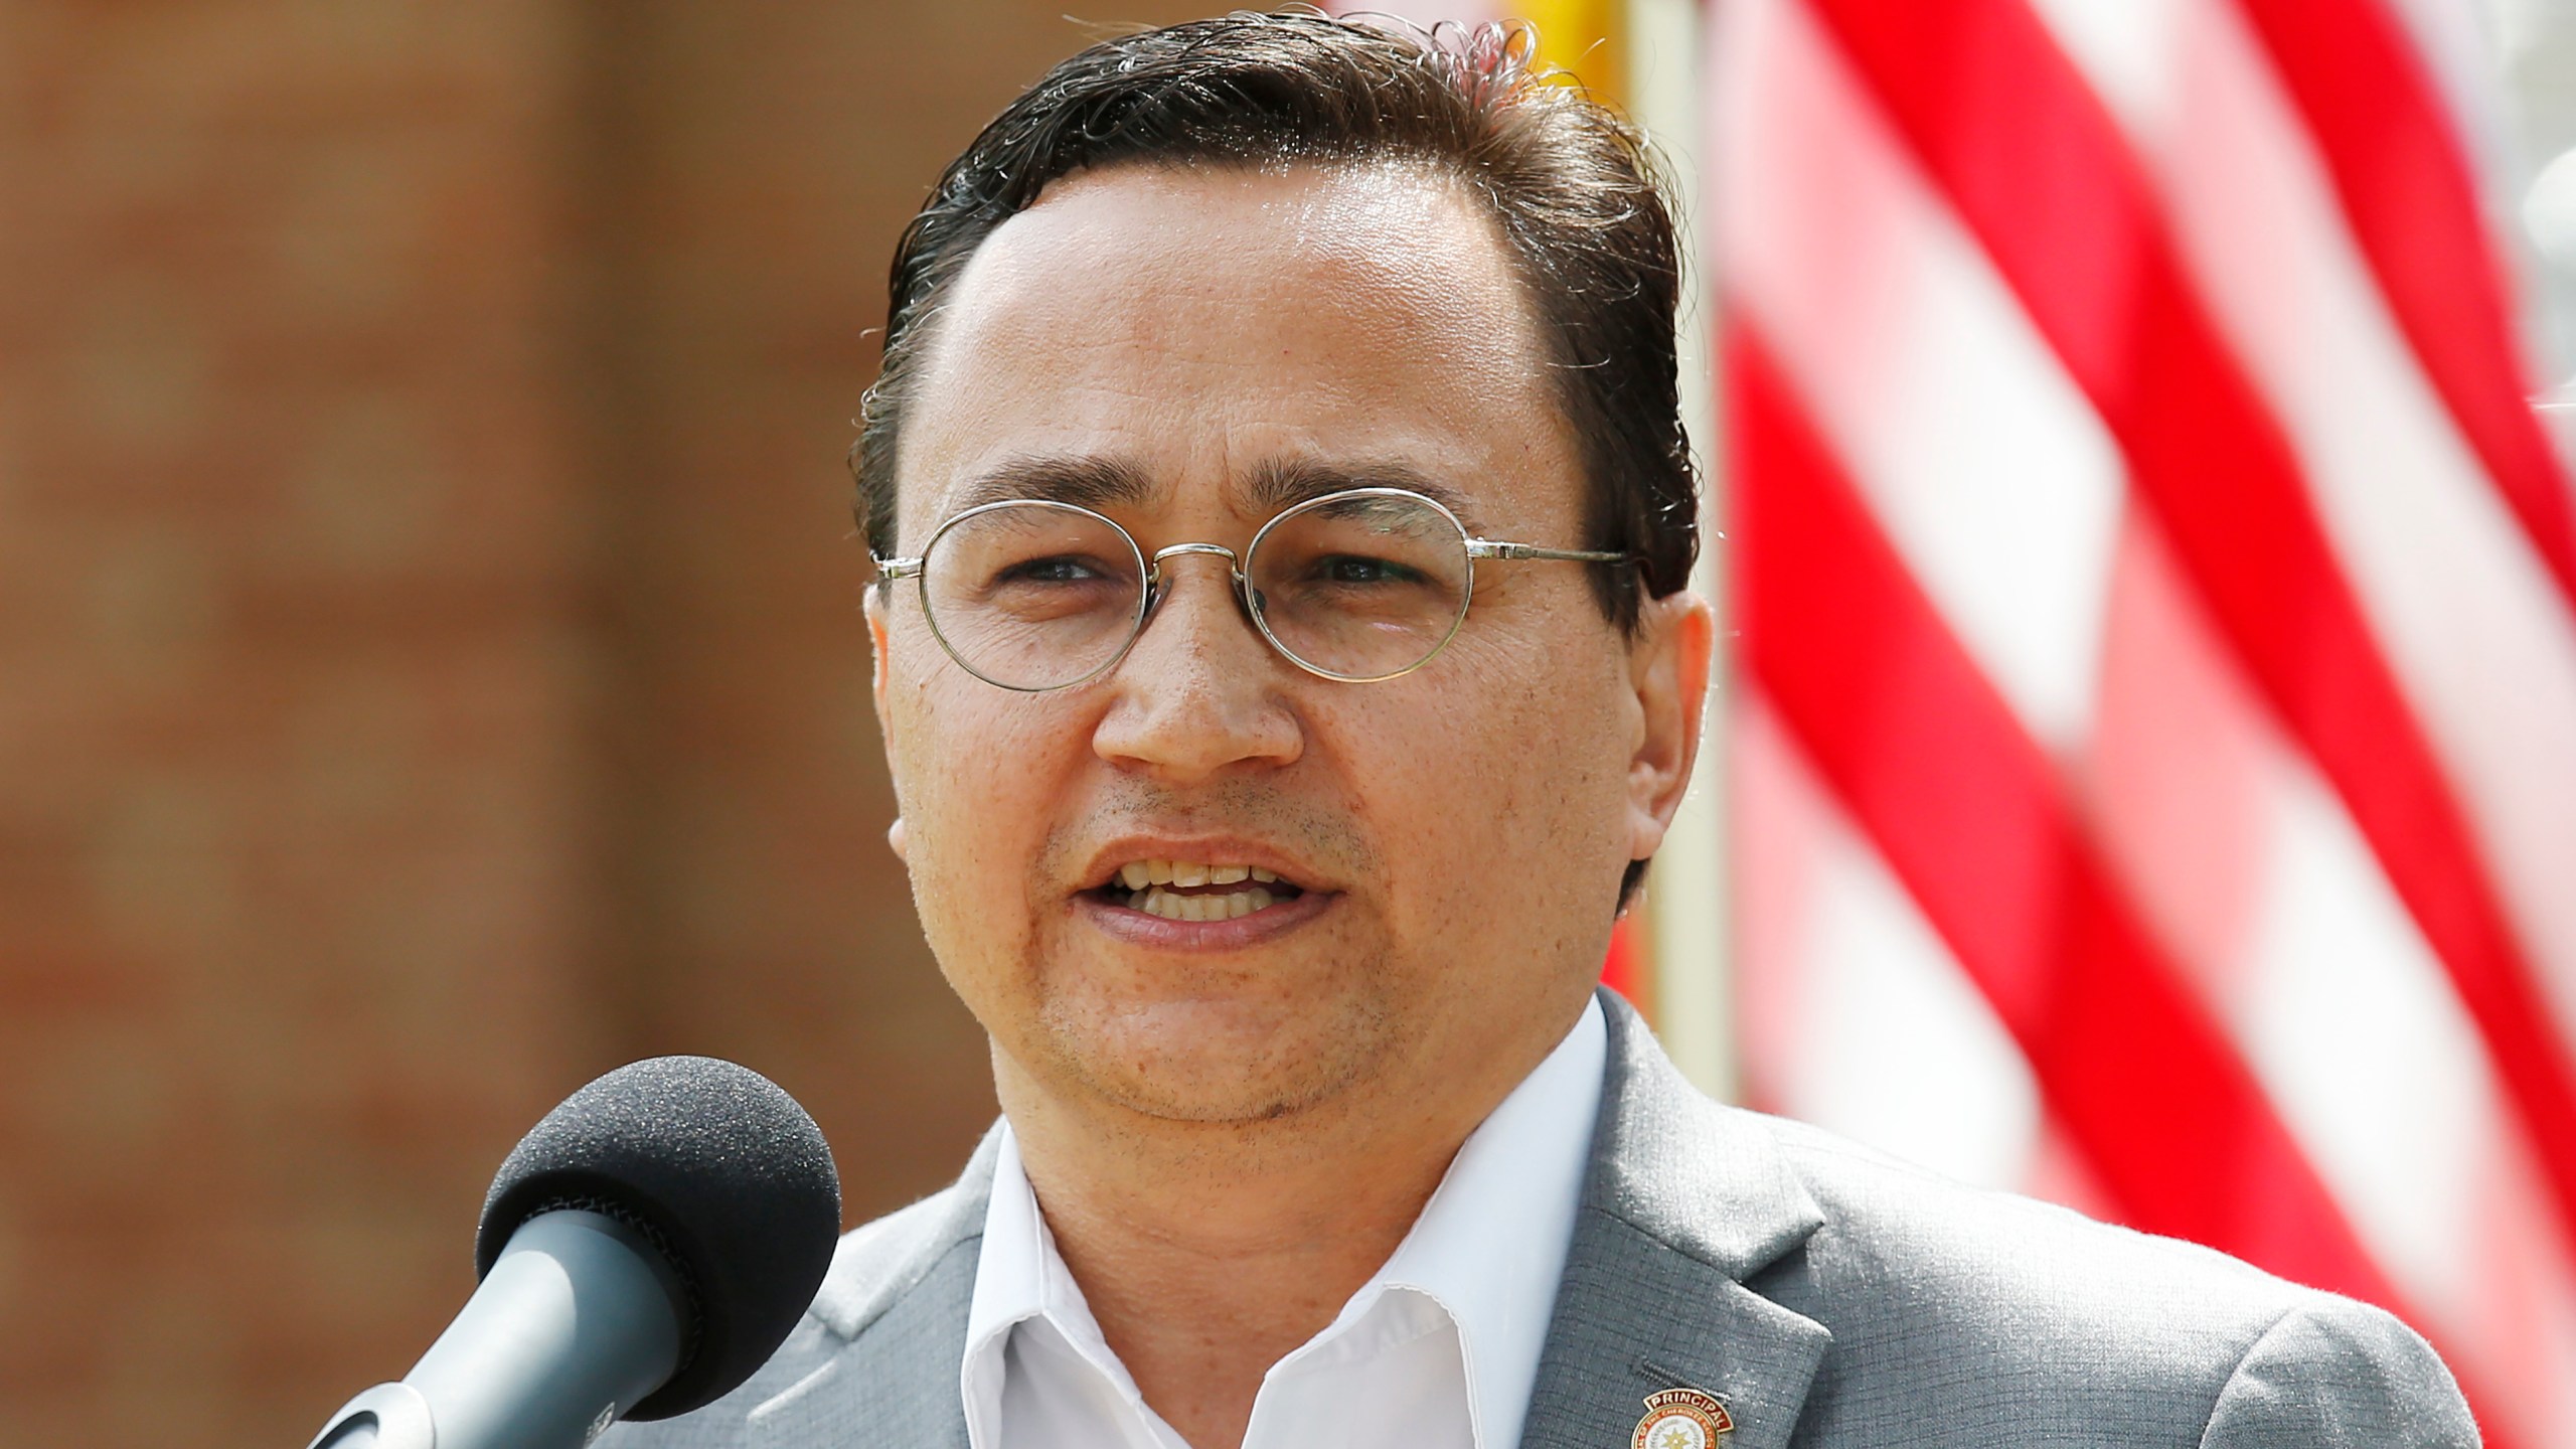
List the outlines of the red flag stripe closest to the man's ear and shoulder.
{"label": "red flag stripe closest to the man's ear and shoulder", "polygon": [[2022,1044],[2128,1222],[2393,1305],[2244,1057],[2074,825],[2048,755],[1728,327],[1752,676]]}

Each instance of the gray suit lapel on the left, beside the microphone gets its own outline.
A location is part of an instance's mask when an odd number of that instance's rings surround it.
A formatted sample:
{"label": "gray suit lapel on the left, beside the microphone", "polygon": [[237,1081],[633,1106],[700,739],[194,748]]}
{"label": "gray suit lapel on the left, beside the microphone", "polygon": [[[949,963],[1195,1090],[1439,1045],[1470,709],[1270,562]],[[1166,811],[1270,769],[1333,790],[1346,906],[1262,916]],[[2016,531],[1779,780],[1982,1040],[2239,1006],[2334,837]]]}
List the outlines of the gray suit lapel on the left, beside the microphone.
{"label": "gray suit lapel on the left, beside the microphone", "polygon": [[824,1281],[814,1315],[845,1338],[819,1369],[750,1413],[744,1449],[809,1444],[904,1444],[966,1449],[958,1364],[992,1199],[999,1132],[984,1137],[951,1201],[917,1238],[863,1274]]}

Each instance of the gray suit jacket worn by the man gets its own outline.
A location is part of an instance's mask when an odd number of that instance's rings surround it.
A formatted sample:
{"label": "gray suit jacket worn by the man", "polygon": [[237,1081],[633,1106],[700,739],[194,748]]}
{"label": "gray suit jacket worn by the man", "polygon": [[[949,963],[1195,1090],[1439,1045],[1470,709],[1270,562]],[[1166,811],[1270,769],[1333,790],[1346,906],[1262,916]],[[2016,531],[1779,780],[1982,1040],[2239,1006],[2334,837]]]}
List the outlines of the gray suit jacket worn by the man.
{"label": "gray suit jacket worn by the man", "polygon": [[[1780,1446],[2470,1446],[2442,1361],[2375,1307],[1718,1106],[1605,993],[1592,1165],[1525,1449],[1623,1449],[1698,1387]],[[729,1397],[611,1449],[966,1449],[958,1361],[994,1142],[850,1232]]]}

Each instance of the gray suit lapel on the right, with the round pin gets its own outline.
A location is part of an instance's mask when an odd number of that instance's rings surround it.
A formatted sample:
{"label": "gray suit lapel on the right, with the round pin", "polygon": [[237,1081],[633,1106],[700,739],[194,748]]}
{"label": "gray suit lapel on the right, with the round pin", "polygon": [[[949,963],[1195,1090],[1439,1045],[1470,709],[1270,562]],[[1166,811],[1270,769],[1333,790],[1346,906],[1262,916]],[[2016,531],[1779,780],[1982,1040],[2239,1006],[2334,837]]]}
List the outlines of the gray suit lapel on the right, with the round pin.
{"label": "gray suit lapel on the right, with the round pin", "polygon": [[1646,1395],[1695,1387],[1723,1449],[1788,1444],[1832,1336],[1744,1287],[1821,1222],[1770,1132],[1700,1096],[1607,995],[1610,1062],[1525,1449],[1618,1449]]}

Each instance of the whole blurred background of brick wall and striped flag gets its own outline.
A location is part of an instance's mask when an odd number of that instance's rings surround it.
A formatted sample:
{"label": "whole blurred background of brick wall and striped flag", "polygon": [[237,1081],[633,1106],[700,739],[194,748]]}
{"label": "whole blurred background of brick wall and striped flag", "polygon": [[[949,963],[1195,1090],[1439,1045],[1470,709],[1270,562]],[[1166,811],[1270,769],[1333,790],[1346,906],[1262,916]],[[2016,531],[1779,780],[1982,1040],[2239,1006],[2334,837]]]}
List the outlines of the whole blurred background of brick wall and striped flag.
{"label": "whole blurred background of brick wall and striped flag", "polygon": [[[0,1444],[301,1444],[623,1060],[953,1176],[842,451],[940,165],[1213,10],[0,0]],[[1728,534],[1610,980],[2576,1441],[2576,8],[1510,15],[1672,160]]]}

